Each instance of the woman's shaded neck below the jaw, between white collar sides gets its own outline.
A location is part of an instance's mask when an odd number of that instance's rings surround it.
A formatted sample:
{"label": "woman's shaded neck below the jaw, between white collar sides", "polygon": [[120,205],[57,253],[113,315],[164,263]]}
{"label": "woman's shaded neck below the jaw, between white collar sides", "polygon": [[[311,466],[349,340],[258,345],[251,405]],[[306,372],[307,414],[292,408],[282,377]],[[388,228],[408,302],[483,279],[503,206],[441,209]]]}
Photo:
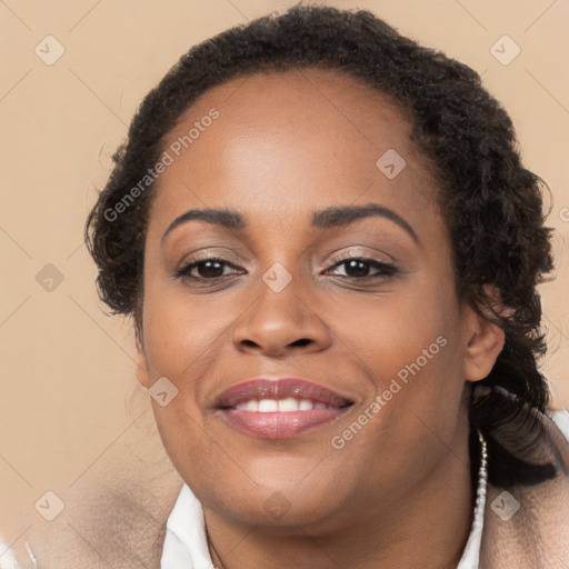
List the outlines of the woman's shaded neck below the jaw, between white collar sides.
{"label": "woman's shaded neck below the jaw, between white collar sides", "polygon": [[328,522],[246,526],[204,509],[212,560],[219,569],[456,567],[472,523],[473,486],[467,428],[416,488],[343,508]]}

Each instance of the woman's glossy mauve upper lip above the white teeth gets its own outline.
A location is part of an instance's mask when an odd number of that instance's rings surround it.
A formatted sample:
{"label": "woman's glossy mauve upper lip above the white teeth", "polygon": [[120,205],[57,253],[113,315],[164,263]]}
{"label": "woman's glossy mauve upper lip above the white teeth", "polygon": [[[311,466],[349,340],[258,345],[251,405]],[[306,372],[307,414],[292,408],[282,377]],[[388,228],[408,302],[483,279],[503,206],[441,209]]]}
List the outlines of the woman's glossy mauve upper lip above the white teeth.
{"label": "woman's glossy mauve upper lip above the white teeth", "polygon": [[300,378],[253,378],[223,391],[216,401],[217,408],[231,408],[251,399],[310,399],[332,407],[346,407],[352,401],[338,392]]}

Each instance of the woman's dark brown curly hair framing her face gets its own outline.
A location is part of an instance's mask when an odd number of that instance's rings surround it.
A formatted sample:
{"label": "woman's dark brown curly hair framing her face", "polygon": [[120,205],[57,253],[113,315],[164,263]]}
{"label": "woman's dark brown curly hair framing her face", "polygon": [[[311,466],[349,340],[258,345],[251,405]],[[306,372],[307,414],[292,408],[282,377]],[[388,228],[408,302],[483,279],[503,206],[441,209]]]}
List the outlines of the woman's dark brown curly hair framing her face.
{"label": "woman's dark brown curly hair framing her face", "polygon": [[[142,101],[87,220],[101,299],[114,313],[132,316],[140,332],[152,184],[122,208],[120,220],[108,212],[157,163],[181,114],[230,79],[303,68],[362,80],[408,117],[411,138],[440,189],[437,201],[451,236],[457,295],[506,335],[492,371],[477,383],[486,389],[471,393],[472,463],[479,429],[488,440],[491,482],[531,485],[553,477],[549,465],[523,460],[541,435],[529,410],[543,413],[549,402],[537,367],[546,343],[536,291],[552,270],[552,230],[543,227],[541,196],[547,184],[521,164],[512,122],[476,71],[402,37],[369,11],[297,4],[203,41],[173,66]],[[499,292],[508,310],[496,308],[485,284]]]}

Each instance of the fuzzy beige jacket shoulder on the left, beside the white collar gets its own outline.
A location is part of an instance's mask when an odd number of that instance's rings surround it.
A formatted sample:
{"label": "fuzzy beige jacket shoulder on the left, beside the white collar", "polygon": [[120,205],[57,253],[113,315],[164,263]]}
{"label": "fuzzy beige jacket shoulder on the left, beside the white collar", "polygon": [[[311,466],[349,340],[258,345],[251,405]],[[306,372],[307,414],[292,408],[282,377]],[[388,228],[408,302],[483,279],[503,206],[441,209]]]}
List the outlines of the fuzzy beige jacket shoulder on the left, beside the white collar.
{"label": "fuzzy beige jacket shoulder on the left, beside the white collar", "polygon": [[181,486],[156,427],[140,420],[76,486],[57,490],[61,516],[43,523],[32,511],[22,531],[21,520],[0,511],[0,569],[157,568]]}

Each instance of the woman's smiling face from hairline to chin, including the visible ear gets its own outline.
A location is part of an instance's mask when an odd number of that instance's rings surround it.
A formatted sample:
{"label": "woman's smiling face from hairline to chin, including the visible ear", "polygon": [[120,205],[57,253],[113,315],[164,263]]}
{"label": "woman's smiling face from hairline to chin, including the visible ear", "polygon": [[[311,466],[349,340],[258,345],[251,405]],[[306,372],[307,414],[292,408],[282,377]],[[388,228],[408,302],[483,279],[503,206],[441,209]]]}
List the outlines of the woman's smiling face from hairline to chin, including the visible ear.
{"label": "woman's smiling face from hairline to chin, including the visible ear", "polygon": [[[465,380],[499,349],[457,299],[410,132],[380,93],[323,70],[227,82],[170,132],[138,377],[167,378],[158,427],[207,511],[333,526],[467,476]],[[204,209],[232,216],[188,213]],[[188,268],[203,256],[218,261]]]}

